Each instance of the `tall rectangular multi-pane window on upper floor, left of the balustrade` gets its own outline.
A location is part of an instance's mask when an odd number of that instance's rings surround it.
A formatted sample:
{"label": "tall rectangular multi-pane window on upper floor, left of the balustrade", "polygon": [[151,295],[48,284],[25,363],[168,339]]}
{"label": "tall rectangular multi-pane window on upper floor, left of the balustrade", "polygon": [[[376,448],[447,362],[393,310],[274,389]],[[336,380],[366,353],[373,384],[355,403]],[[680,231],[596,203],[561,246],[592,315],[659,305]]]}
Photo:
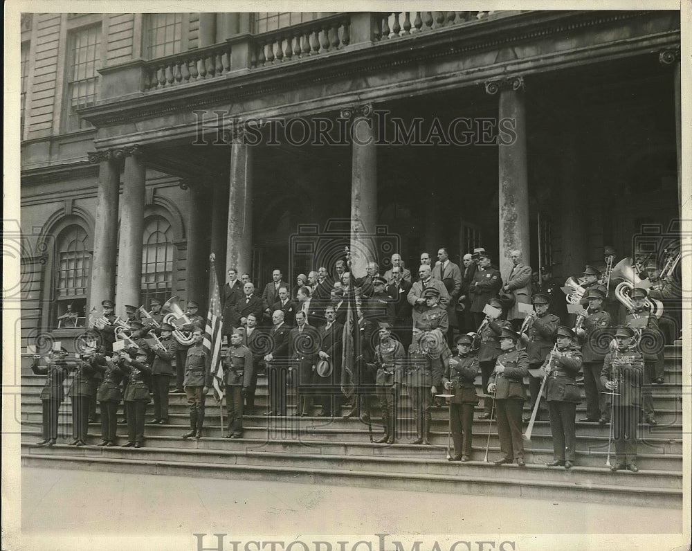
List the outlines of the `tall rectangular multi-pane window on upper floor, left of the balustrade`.
{"label": "tall rectangular multi-pane window on upper floor, left of the balustrade", "polygon": [[91,26],[71,31],[69,37],[67,73],[67,109],[65,130],[71,132],[88,128],[75,109],[89,107],[98,100],[101,83],[101,27]]}

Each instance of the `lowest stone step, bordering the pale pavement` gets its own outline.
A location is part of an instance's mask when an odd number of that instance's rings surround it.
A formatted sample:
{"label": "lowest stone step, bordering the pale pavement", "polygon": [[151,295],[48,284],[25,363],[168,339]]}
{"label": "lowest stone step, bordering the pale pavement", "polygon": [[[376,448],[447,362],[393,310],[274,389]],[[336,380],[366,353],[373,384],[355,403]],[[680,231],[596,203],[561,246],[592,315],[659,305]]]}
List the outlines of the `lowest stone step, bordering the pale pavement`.
{"label": "lowest stone step, bordering the pale pavement", "polygon": [[[134,451],[143,451],[143,449],[133,449]],[[145,451],[145,453],[147,452]],[[519,471],[518,467],[514,466],[507,466],[506,469],[504,467],[493,469],[493,474],[479,478],[462,473],[450,476],[428,473],[399,473],[392,470],[371,471],[363,469],[349,471],[344,469],[293,467],[291,464],[281,466],[228,464],[206,462],[199,458],[198,455],[193,455],[189,461],[152,461],[149,459],[137,459],[136,457],[135,453],[128,454],[127,458],[105,458],[85,456],[80,452],[73,452],[72,455],[62,455],[46,451],[44,453],[23,453],[21,455],[21,464],[30,467],[80,468],[90,471],[120,473],[136,472],[230,480],[277,480],[320,485],[396,488],[410,491],[432,491],[441,494],[482,494],[486,496],[516,496],[542,500],[579,500],[588,503],[628,503],[629,505],[647,507],[682,507],[682,490],[680,489],[630,487],[622,483],[623,480],[629,479],[620,477],[615,478],[613,481],[620,482],[619,484],[614,483],[610,485],[582,485],[556,480],[525,480],[524,474]],[[499,472],[494,474],[495,471]]]}

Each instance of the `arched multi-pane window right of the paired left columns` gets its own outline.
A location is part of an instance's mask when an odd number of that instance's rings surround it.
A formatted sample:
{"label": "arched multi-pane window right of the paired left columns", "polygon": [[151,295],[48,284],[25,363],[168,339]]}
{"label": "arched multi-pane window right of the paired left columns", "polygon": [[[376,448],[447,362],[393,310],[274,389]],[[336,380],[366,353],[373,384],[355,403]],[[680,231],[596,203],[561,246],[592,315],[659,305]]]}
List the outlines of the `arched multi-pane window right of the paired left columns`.
{"label": "arched multi-pane window right of the paired left columns", "polygon": [[173,289],[173,230],[161,216],[145,220],[142,249],[142,300],[168,300]]}

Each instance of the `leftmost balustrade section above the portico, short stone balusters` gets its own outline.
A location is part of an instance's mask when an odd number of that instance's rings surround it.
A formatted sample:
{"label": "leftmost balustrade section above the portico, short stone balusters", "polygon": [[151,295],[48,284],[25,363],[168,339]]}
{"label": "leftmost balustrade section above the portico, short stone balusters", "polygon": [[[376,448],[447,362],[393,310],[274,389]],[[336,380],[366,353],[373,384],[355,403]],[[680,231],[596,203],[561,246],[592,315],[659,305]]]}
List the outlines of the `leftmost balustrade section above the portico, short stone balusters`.
{"label": "leftmost balustrade section above the portico, short stone balusters", "polygon": [[221,77],[231,69],[230,48],[230,44],[215,44],[151,60],[145,65],[144,89],[160,90]]}

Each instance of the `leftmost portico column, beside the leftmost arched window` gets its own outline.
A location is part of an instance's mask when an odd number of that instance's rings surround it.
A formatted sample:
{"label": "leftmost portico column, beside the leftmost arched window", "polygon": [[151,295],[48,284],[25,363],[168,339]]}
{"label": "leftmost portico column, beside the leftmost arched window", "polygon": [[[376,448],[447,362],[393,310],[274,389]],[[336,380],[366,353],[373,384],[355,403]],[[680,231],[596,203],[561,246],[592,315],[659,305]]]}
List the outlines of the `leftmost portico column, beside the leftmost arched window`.
{"label": "leftmost portico column, beside the leftmost arched window", "polygon": [[115,299],[122,151],[89,153],[89,162],[100,163],[100,166],[88,307],[95,307],[100,313],[102,300]]}

